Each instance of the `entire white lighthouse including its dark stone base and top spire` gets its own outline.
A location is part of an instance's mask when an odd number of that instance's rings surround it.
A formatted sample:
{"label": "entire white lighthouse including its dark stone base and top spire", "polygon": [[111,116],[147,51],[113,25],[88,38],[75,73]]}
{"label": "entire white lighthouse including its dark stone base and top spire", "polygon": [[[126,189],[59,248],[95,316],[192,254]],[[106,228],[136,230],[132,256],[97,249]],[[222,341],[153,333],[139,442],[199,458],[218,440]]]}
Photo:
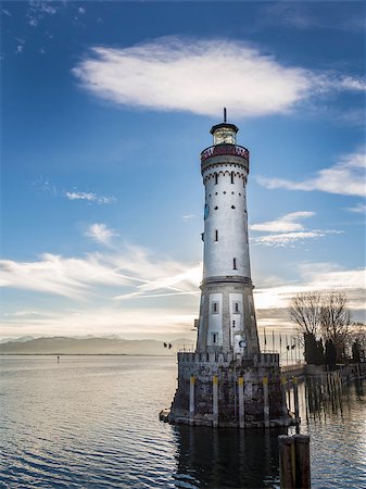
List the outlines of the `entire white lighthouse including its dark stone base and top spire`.
{"label": "entire white lighthouse including its dark stone base and top spire", "polygon": [[203,277],[194,352],[178,352],[178,386],[161,418],[212,427],[293,423],[276,352],[261,352],[253,301],[247,184],[249,150],[226,120],[201,152]]}

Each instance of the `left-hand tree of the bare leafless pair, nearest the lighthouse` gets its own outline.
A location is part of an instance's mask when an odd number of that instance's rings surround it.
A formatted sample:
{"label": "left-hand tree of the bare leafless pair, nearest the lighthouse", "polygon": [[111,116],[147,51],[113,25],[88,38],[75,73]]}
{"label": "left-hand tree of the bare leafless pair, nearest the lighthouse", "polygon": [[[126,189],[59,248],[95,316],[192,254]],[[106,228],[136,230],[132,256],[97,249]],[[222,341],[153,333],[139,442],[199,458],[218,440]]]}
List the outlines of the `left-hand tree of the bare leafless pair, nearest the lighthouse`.
{"label": "left-hand tree of the bare leafless pair, nearest the lighthouse", "polygon": [[314,337],[319,334],[321,308],[321,294],[317,291],[301,292],[291,299],[289,313],[300,334]]}

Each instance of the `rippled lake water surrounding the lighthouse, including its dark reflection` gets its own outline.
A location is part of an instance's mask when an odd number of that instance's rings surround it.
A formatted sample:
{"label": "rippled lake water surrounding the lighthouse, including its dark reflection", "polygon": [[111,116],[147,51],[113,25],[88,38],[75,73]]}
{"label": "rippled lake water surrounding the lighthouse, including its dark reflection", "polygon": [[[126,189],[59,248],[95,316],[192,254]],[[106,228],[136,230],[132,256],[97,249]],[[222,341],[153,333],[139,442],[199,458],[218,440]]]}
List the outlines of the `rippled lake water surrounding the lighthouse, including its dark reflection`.
{"label": "rippled lake water surrounding the lighthouse, including its dark reflection", "polygon": [[[0,487],[278,486],[278,431],[159,421],[176,375],[175,358],[0,358]],[[307,421],[302,406],[314,488],[366,488],[363,387]]]}

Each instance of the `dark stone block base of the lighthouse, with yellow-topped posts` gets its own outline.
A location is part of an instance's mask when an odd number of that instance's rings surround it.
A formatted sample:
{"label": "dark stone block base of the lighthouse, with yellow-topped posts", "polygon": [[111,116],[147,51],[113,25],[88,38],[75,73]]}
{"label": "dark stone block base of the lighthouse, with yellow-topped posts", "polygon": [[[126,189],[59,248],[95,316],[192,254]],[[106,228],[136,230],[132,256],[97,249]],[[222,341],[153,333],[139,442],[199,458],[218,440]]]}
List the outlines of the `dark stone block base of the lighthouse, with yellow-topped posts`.
{"label": "dark stone block base of the lighthouse, with yellow-topped posts", "polygon": [[232,353],[178,353],[178,388],[165,421],[240,428],[295,424],[286,406],[278,354],[249,361]]}

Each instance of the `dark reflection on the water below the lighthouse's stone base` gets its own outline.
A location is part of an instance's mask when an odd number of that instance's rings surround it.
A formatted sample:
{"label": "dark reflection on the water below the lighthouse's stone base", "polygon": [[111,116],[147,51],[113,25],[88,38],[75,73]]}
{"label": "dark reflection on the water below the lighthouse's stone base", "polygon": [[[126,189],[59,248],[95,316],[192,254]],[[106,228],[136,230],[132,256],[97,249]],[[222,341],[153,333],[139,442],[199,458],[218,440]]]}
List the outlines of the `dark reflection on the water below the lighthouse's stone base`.
{"label": "dark reflection on the water below the lighthouse's stone base", "polygon": [[177,443],[177,487],[266,488],[278,484],[277,437],[286,434],[285,429],[240,431],[190,426],[173,429]]}

